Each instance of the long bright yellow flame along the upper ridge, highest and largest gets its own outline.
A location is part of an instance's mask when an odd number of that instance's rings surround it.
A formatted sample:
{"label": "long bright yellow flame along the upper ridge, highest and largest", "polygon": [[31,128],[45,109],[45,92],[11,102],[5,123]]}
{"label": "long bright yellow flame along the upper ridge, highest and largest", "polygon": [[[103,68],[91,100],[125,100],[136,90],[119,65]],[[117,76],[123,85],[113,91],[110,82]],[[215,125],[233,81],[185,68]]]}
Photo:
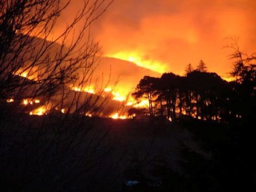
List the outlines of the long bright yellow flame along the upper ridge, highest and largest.
{"label": "long bright yellow flame along the upper ridge, highest and largest", "polygon": [[164,73],[166,71],[165,64],[163,64],[159,61],[143,59],[143,56],[139,55],[139,53],[118,52],[113,55],[108,55],[108,57],[113,57],[116,59],[134,62],[138,66],[142,66],[143,68],[151,69],[158,73]]}

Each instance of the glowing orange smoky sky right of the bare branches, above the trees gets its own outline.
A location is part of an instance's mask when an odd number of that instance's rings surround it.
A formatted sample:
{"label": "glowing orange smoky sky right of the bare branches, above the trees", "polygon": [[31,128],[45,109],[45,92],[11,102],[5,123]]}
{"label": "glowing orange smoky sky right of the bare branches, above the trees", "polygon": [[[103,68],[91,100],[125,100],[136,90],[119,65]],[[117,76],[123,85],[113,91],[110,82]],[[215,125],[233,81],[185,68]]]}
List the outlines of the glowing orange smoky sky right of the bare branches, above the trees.
{"label": "glowing orange smoky sky right of the bare branches, above the trees", "polygon": [[242,51],[256,52],[256,1],[115,0],[92,34],[104,56],[136,55],[153,70],[161,65],[160,72],[177,74],[203,60],[224,75],[232,52],[223,48],[231,43],[226,37],[239,37]]}

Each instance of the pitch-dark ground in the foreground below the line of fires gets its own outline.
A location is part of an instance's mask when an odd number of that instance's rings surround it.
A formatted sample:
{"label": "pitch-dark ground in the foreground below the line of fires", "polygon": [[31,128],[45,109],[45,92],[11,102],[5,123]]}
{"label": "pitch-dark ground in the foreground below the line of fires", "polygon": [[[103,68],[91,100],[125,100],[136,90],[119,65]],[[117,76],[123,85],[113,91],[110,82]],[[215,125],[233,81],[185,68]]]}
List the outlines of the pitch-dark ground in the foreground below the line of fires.
{"label": "pitch-dark ground in the foreground below the line of fires", "polygon": [[[218,123],[16,115],[1,116],[1,191],[222,191],[233,181],[241,183],[231,189],[255,186],[248,176],[255,172],[243,168],[239,155],[229,161],[233,141]],[[222,156],[225,151],[230,157]],[[127,186],[129,181],[139,183]]]}

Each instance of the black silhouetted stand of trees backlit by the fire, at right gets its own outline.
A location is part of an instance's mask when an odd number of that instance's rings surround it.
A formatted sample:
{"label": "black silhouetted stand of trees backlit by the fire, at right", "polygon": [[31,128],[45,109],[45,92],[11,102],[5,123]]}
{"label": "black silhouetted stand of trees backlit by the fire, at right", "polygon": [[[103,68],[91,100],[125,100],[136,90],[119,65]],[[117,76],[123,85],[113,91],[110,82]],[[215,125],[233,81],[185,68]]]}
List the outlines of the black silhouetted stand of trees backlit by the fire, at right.
{"label": "black silhouetted stand of trees backlit by the fire, at right", "polygon": [[217,73],[208,72],[201,60],[196,69],[191,64],[186,66],[185,76],[174,73],[164,73],[160,78],[144,76],[132,96],[137,101],[148,100],[151,117],[166,116],[175,121],[190,116],[220,122],[246,118],[253,115],[255,106],[255,53],[248,57],[235,47],[231,59],[235,60],[230,73],[234,81],[227,82]]}

